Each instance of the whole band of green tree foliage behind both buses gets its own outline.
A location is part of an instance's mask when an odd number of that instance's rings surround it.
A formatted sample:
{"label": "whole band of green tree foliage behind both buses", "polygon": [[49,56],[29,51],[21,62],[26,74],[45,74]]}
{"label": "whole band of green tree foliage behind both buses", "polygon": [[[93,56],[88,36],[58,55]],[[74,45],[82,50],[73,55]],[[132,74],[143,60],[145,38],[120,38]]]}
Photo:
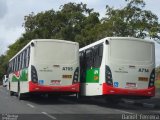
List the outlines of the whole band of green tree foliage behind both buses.
{"label": "whole band of green tree foliage behind both buses", "polygon": [[160,40],[158,17],[145,10],[143,0],[125,0],[120,9],[106,6],[106,15],[87,8],[86,4],[68,3],[40,13],[24,17],[25,33],[8,47],[6,55],[0,56],[0,73],[6,72],[7,62],[32,39],[64,39],[79,42],[80,47],[106,36],[150,37]]}

